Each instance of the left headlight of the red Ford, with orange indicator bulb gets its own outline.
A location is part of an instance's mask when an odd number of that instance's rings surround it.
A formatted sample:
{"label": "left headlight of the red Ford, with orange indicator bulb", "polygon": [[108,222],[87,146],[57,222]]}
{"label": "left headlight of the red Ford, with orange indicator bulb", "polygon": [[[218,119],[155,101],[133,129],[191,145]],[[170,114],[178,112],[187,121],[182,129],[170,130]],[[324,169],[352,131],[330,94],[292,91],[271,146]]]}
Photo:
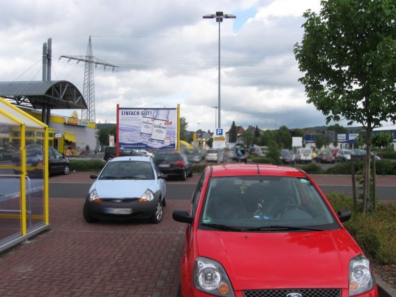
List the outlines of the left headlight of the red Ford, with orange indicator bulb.
{"label": "left headlight of the red Ford, with orange indicator bulb", "polygon": [[209,258],[198,257],[195,260],[194,286],[210,295],[235,297],[223,266]]}

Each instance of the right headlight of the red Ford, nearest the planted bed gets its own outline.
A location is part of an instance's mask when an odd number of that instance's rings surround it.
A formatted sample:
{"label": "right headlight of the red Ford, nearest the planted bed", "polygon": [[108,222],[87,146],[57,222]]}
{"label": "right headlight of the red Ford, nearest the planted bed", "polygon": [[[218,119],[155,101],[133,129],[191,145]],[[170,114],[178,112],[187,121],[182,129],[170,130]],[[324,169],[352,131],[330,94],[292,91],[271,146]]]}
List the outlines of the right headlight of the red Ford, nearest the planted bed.
{"label": "right headlight of the red Ford, nearest the planted bed", "polygon": [[349,296],[362,294],[373,288],[374,278],[369,260],[363,255],[352,258],[349,261]]}

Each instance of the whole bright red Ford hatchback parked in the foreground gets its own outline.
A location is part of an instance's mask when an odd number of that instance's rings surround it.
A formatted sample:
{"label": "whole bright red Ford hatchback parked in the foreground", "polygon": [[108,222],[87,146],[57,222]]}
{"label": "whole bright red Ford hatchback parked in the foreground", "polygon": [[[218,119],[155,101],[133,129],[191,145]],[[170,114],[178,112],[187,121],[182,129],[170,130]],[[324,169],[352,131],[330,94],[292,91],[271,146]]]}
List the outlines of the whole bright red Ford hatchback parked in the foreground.
{"label": "whole bright red Ford hatchback parked in the foreground", "polygon": [[[370,263],[303,171],[271,165],[206,167],[189,211],[183,297],[376,297]],[[179,296],[180,296],[179,294]]]}

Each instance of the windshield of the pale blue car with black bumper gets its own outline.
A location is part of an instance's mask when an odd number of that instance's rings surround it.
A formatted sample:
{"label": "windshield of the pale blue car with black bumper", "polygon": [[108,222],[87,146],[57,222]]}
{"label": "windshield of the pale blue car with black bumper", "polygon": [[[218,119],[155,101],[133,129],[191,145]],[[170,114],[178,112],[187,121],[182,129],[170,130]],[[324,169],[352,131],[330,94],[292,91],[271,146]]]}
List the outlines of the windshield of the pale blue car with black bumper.
{"label": "windshield of the pale blue car with black bumper", "polygon": [[150,162],[113,161],[103,168],[99,179],[142,179],[153,180],[154,174]]}

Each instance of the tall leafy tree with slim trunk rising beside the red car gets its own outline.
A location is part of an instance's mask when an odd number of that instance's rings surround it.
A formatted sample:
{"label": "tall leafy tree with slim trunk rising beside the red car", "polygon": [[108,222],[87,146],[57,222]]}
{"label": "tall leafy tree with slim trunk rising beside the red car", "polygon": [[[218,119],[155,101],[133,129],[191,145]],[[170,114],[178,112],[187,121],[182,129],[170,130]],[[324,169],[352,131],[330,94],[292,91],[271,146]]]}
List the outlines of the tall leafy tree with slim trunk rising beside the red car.
{"label": "tall leafy tree with slim trunk rising beside the red car", "polygon": [[[321,1],[319,14],[307,10],[304,35],[294,53],[307,102],[326,123],[348,120],[365,128],[370,156],[373,128],[396,122],[395,0]],[[364,164],[363,212],[370,193],[370,158]]]}

